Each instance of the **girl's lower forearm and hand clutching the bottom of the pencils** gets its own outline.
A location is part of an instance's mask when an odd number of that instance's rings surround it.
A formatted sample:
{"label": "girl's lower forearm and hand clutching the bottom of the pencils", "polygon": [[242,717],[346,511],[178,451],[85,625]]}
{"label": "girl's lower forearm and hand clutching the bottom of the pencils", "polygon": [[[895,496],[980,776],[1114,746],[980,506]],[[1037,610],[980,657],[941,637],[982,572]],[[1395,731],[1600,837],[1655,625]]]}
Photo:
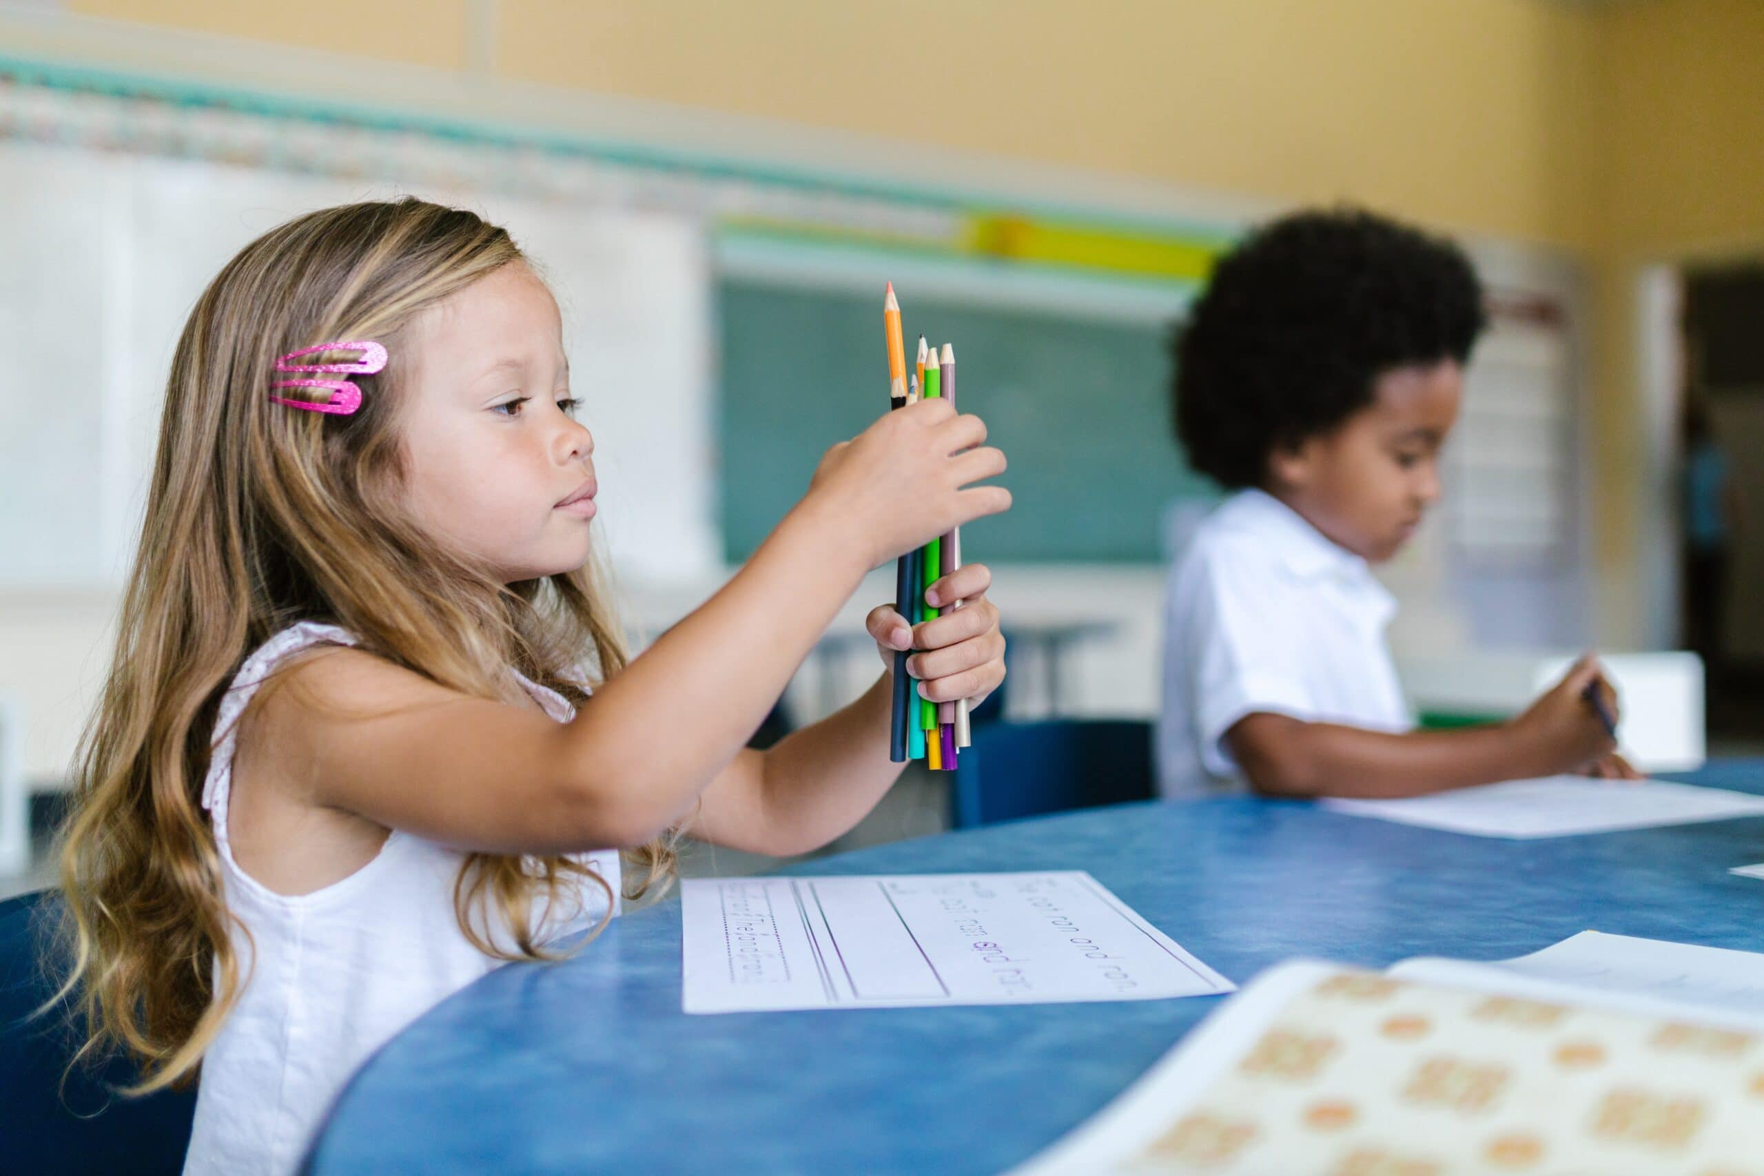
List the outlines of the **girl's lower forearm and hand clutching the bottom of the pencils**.
{"label": "girl's lower forearm and hand clutching the bottom of the pencils", "polygon": [[[877,608],[866,628],[886,665],[894,649],[917,647],[907,668],[931,702],[984,700],[1004,681],[998,610],[986,599],[991,571],[967,564],[931,585],[935,599],[967,603],[914,633],[893,608]],[[806,853],[856,825],[905,765],[889,762],[893,672],[863,698],[781,739],[767,751],[743,751],[704,790],[688,832],[750,853]]]}

